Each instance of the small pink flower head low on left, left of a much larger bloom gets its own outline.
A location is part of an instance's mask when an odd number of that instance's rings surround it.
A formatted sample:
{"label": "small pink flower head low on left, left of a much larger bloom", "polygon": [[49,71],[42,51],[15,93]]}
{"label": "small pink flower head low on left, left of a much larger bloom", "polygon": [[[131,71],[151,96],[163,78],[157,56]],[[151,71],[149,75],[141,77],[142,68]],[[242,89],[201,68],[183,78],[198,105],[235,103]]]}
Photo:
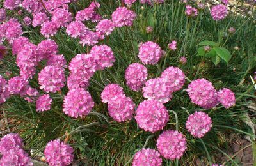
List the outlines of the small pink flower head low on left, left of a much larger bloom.
{"label": "small pink flower head low on left, left of a much larger bloom", "polygon": [[36,100],[36,111],[44,112],[51,109],[52,99],[49,94],[44,94]]}

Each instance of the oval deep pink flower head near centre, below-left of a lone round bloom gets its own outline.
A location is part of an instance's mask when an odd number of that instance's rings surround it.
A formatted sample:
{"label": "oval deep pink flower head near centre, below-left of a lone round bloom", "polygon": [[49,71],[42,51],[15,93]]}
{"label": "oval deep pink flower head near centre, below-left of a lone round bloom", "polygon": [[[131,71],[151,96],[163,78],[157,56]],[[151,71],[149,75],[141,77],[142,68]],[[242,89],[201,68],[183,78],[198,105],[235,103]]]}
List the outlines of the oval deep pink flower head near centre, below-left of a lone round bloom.
{"label": "oval deep pink flower head near centre, below-left of a lone round bloom", "polygon": [[130,64],[125,70],[127,86],[132,89],[132,91],[139,91],[147,80],[147,72],[147,68],[140,63]]}

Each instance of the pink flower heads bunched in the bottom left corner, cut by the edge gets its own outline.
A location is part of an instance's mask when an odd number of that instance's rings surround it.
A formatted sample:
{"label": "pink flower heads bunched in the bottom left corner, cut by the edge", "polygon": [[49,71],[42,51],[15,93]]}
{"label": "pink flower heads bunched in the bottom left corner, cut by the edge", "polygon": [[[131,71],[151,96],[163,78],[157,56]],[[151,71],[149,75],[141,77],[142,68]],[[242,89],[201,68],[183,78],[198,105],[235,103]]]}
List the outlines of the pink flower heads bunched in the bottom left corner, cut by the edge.
{"label": "pink flower heads bunched in the bottom left corner, cut by the edge", "polygon": [[22,139],[17,133],[9,133],[0,141],[0,165],[33,165],[28,153],[22,149]]}

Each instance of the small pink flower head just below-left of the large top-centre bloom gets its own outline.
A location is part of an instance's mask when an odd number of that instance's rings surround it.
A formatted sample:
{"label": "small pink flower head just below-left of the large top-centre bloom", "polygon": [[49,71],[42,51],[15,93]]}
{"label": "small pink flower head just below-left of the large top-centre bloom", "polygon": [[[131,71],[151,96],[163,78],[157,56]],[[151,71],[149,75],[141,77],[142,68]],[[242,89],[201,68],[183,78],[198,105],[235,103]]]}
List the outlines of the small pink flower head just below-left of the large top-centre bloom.
{"label": "small pink flower head just below-left of the large top-centre bloom", "polygon": [[115,24],[108,19],[100,20],[100,22],[96,26],[96,31],[100,34],[108,36],[112,33],[113,29],[115,28]]}

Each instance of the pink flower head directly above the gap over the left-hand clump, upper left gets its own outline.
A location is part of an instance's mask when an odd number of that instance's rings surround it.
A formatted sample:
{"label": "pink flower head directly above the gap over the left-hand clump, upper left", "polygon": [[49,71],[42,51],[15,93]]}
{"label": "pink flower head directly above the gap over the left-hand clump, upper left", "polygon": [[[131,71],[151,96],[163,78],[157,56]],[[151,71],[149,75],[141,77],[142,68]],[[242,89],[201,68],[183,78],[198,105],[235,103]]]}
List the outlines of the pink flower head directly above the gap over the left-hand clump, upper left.
{"label": "pink flower head directly above the gap over the left-hand clump, upper left", "polygon": [[50,36],[54,36],[58,31],[58,24],[56,22],[48,21],[42,24],[41,34],[45,36],[45,38],[49,38]]}

